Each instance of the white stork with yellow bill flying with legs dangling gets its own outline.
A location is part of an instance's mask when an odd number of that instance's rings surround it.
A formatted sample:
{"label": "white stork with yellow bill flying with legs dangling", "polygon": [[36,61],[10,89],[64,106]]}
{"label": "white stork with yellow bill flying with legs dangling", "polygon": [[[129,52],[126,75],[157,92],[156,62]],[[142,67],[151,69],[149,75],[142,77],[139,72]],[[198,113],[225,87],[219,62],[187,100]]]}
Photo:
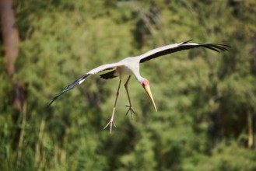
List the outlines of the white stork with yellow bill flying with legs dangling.
{"label": "white stork with yellow bill flying with legs dangling", "polygon": [[208,49],[210,49],[212,51],[216,51],[216,52],[228,51],[228,47],[230,47],[226,44],[198,44],[198,43],[190,43],[190,42],[191,42],[191,40],[184,41],[179,44],[169,44],[167,46],[158,47],[156,49],[153,49],[151,51],[146,52],[145,54],[141,54],[136,57],[128,57],[128,58],[124,58],[123,60],[118,61],[116,63],[100,65],[100,66],[92,69],[91,71],[87,72],[85,75],[82,75],[79,79],[76,79],[74,82],[72,82],[71,84],[66,86],[64,89],[62,89],[62,91],[57,96],[54,96],[54,98],[51,99],[51,101],[50,101],[50,103],[48,103],[48,105],[50,106],[51,103],[53,103],[56,99],[58,99],[58,97],[61,96],[64,92],[67,92],[68,90],[73,89],[76,86],[79,86],[82,82],[84,82],[87,79],[87,77],[89,77],[89,75],[96,75],[99,72],[111,70],[110,72],[100,75],[100,77],[102,79],[113,79],[115,77],[119,77],[119,84],[117,87],[117,93],[116,93],[116,98],[115,98],[115,102],[114,102],[113,112],[112,112],[110,121],[103,128],[103,129],[105,129],[106,127],[110,126],[110,134],[111,134],[112,125],[114,125],[114,127],[115,127],[114,111],[115,111],[115,107],[117,105],[117,98],[119,95],[121,81],[124,79],[124,76],[128,75],[128,79],[124,83],[124,87],[126,89],[128,101],[129,101],[128,111],[126,114],[128,114],[130,112],[131,115],[133,116],[133,114],[135,113],[135,111],[133,110],[132,102],[131,102],[129,92],[128,92],[128,82],[131,79],[132,75],[135,75],[135,78],[138,80],[139,84],[141,84],[142,87],[145,89],[146,93],[149,96],[149,99],[153,103],[154,109],[157,111],[156,104],[154,102],[153,95],[152,95],[152,92],[149,87],[149,80],[143,78],[139,73],[139,64],[140,63],[149,61],[153,58],[158,58],[158,57],[166,55],[166,54],[171,54],[171,53],[174,53],[177,51],[184,51],[184,50],[197,48],[197,47],[205,47],[205,48],[208,48]]}

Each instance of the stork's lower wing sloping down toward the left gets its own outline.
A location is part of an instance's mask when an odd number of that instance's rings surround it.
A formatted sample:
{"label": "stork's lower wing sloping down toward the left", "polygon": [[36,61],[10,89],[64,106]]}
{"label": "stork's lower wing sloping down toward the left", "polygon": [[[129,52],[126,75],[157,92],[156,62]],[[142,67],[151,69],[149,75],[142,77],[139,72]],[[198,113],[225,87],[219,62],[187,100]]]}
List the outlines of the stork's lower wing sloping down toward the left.
{"label": "stork's lower wing sloping down toward the left", "polygon": [[48,106],[50,106],[51,103],[53,103],[56,99],[58,99],[58,97],[61,96],[64,92],[67,92],[68,90],[73,89],[76,86],[79,86],[79,84],[84,82],[89,75],[95,75],[98,72],[103,72],[104,70],[107,70],[107,69],[114,69],[117,66],[121,66],[121,63],[117,62],[113,64],[101,65],[99,67],[92,69],[91,71],[87,72],[85,75],[82,75],[79,79],[76,79],[74,82],[72,82],[68,86],[65,86],[65,88],[62,89],[60,93],[58,93],[58,95],[54,96],[54,98],[51,99],[51,101],[48,103]]}

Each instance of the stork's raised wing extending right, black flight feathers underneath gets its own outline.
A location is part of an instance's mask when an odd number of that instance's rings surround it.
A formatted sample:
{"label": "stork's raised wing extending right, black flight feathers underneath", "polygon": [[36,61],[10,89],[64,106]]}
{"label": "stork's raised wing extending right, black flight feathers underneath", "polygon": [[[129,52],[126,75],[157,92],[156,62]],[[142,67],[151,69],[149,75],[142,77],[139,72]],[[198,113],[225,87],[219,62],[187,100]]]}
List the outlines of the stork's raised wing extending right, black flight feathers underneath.
{"label": "stork's raised wing extending right, black flight feathers underneath", "polygon": [[144,61],[149,61],[153,58],[158,58],[160,56],[171,54],[177,51],[184,51],[196,47],[205,47],[212,51],[228,51],[228,45],[226,44],[197,44],[197,43],[189,43],[191,40],[181,42],[180,44],[169,44],[167,46],[158,47],[151,51],[146,52],[145,54],[140,55],[140,63]]}

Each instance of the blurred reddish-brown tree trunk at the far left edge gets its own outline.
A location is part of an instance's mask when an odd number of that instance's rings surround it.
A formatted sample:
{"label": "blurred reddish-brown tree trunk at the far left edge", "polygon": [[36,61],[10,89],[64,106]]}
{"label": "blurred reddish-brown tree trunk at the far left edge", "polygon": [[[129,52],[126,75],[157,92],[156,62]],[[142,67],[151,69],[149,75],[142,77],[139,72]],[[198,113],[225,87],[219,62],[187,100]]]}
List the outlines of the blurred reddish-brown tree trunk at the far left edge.
{"label": "blurred reddish-brown tree trunk at the far left edge", "polygon": [[[23,138],[26,124],[26,86],[17,82],[15,74],[15,61],[19,54],[19,32],[15,24],[14,5],[12,0],[0,0],[2,19],[2,37],[5,45],[5,58],[7,73],[12,80],[13,103],[22,114],[22,127],[16,127],[14,136],[15,148],[18,148],[18,160],[22,155]],[[16,122],[17,120],[15,120]]]}

